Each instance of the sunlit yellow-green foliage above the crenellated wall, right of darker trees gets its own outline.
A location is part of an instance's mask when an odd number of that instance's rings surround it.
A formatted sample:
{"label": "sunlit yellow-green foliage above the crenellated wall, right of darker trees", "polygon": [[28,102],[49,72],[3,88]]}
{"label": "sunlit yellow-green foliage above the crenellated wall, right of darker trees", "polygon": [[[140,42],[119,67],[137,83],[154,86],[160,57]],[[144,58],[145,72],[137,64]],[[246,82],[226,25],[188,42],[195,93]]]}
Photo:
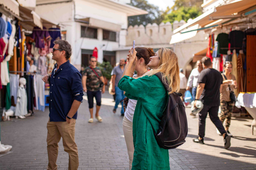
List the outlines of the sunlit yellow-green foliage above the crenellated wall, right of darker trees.
{"label": "sunlit yellow-green foliage above the crenellated wall, right of darker trees", "polygon": [[197,16],[201,15],[202,11],[199,10],[197,6],[185,7],[181,6],[178,10],[174,10],[169,14],[164,15],[163,22],[171,22],[173,23],[175,20],[180,21],[188,21],[188,19],[194,19]]}

